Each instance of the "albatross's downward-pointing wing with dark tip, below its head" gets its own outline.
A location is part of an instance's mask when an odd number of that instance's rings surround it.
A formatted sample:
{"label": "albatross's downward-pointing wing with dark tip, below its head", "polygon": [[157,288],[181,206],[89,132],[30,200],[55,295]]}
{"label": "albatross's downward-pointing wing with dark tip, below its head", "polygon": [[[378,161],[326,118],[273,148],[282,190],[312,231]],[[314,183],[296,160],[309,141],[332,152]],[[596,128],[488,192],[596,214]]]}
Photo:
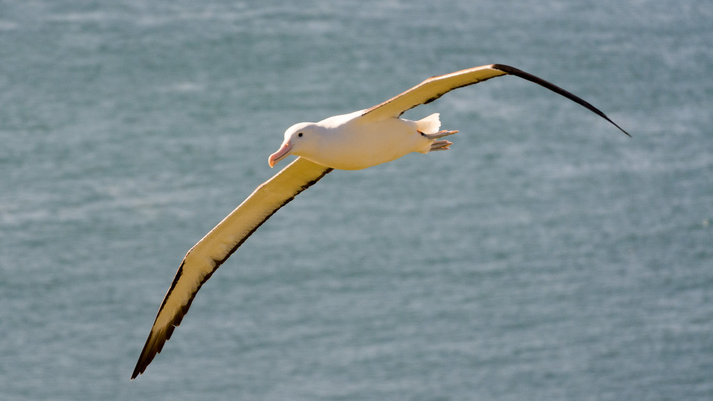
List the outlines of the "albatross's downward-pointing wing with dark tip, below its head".
{"label": "albatross's downward-pointing wing with dark tip, below its head", "polygon": [[265,220],[332,168],[297,158],[262,183],[183,258],[173,284],[163,298],[131,378],[146,369],[188,312],[200,286]]}

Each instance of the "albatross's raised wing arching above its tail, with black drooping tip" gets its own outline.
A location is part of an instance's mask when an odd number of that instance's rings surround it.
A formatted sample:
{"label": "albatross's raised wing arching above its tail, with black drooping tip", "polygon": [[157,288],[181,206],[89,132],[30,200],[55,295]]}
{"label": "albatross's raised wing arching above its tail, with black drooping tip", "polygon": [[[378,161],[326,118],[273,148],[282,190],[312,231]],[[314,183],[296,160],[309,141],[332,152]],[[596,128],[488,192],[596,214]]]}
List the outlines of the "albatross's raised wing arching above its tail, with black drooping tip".
{"label": "albatross's raised wing arching above its tail, with black drooping tip", "polygon": [[374,120],[399,117],[405,111],[421,104],[431,103],[444,94],[453,91],[453,89],[473,85],[474,83],[483,82],[490,78],[503,75],[519,76],[520,78],[544,86],[545,88],[550,89],[550,91],[559,93],[560,95],[565,96],[565,98],[588,108],[593,113],[596,113],[598,116],[614,124],[614,126],[619,128],[623,133],[629,135],[629,133],[624,131],[620,126],[617,126],[614,121],[611,121],[605,113],[602,113],[602,111],[598,108],[592,106],[579,96],[575,96],[573,93],[565,91],[563,88],[534,76],[531,73],[526,73],[518,68],[506,66],[504,64],[491,64],[488,66],[473,67],[453,73],[447,73],[446,75],[433,76],[408,91],[384,101],[384,103],[367,108],[362,116],[364,116],[364,118]]}

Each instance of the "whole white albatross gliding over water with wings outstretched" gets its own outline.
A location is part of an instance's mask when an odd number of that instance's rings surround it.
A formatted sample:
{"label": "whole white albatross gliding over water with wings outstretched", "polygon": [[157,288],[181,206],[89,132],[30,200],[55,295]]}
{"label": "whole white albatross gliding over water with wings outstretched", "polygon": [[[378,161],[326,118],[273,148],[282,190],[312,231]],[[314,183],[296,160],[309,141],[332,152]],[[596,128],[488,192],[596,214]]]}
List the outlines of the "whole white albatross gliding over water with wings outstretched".
{"label": "whole white albatross gliding over water with wings outstretched", "polygon": [[396,160],[411,152],[447,150],[453,143],[443,137],[458,131],[439,131],[441,122],[438,113],[419,121],[406,120],[401,115],[411,108],[431,103],[453,89],[505,75],[518,76],[559,93],[630,136],[605,113],[582,98],[542,78],[503,64],[434,76],[371,108],[329,117],[318,123],[295,124],[285,131],[282,146],[270,155],[268,163],[274,167],[289,155],[298,157],[258,186],[186,253],[158,309],[131,379],[143,373],[161,351],[188,312],[201,285],[279,208],[334,169],[359,170]]}

